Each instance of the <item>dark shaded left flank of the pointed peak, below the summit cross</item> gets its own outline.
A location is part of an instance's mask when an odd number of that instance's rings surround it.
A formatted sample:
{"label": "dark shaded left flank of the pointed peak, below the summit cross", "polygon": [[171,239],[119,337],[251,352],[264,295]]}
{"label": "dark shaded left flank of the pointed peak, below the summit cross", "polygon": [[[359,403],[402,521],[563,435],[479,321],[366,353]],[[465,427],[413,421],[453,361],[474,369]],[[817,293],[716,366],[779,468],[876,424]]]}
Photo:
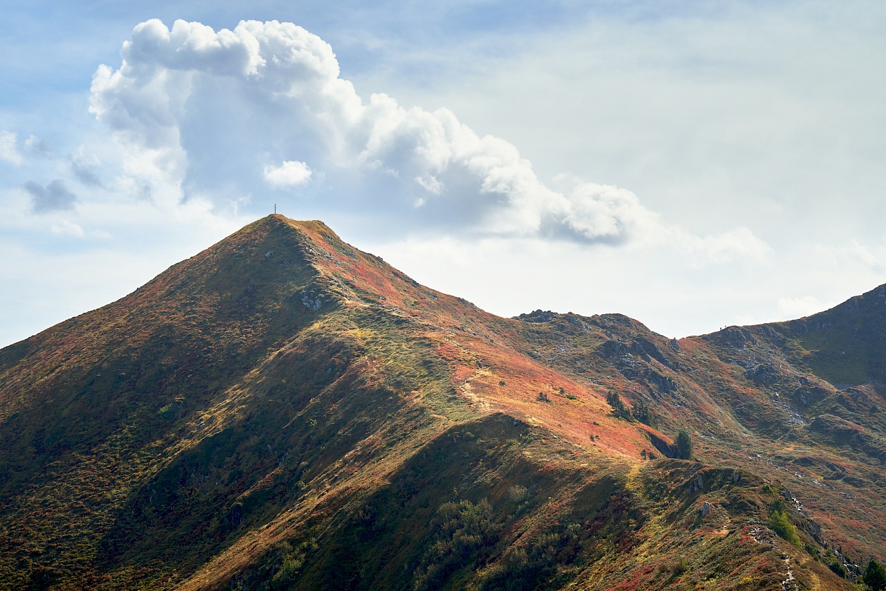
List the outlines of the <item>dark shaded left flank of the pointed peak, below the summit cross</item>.
{"label": "dark shaded left flank of the pointed peak, below the summit cross", "polygon": [[[272,248],[291,264],[271,264]],[[3,350],[5,581],[92,572],[128,494],[201,438],[200,409],[312,322],[293,300],[315,280],[304,261],[284,232],[256,222],[128,297]]]}

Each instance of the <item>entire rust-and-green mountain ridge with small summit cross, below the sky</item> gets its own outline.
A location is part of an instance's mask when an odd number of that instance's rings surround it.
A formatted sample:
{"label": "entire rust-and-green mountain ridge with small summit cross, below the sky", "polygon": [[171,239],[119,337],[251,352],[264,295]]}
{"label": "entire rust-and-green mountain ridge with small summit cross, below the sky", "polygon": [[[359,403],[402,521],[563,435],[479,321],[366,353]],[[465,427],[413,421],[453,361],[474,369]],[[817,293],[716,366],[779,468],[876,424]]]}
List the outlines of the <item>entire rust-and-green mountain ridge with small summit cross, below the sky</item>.
{"label": "entire rust-and-green mountain ridge with small summit cross, below the sky", "polygon": [[850,589],[884,298],[501,318],[270,215],[0,350],[0,587]]}

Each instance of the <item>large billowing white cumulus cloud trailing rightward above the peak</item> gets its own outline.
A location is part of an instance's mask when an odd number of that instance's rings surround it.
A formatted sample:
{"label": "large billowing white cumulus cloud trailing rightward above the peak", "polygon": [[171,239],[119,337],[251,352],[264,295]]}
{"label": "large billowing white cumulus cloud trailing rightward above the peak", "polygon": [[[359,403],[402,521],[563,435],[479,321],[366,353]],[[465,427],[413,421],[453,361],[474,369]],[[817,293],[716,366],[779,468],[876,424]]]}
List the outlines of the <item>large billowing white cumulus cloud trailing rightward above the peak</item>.
{"label": "large billowing white cumulus cloud trailing rightward above the peak", "polygon": [[291,23],[248,20],[215,32],[154,19],[121,55],[119,68],[94,75],[90,111],[123,146],[127,183],[152,198],[251,194],[260,183],[307,183],[313,170],[336,187],[328,205],[408,219],[400,227],[610,245],[676,240],[710,251],[711,261],[758,250],[746,229],[688,237],[618,187],[552,190],[513,144],[479,136],[447,109],[407,109],[385,94],[364,100],[339,76],[330,45]]}

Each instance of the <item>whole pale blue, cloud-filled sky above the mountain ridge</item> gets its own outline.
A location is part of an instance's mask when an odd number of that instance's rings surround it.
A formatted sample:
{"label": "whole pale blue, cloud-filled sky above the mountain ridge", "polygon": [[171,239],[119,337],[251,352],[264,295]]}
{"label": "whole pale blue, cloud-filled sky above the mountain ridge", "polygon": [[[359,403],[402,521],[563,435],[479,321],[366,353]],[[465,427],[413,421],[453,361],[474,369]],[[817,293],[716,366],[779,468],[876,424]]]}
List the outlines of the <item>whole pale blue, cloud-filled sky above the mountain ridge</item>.
{"label": "whole pale blue, cloud-filled sky above the mountain ridge", "polygon": [[886,283],[886,4],[10,0],[0,346],[277,211],[668,337]]}

